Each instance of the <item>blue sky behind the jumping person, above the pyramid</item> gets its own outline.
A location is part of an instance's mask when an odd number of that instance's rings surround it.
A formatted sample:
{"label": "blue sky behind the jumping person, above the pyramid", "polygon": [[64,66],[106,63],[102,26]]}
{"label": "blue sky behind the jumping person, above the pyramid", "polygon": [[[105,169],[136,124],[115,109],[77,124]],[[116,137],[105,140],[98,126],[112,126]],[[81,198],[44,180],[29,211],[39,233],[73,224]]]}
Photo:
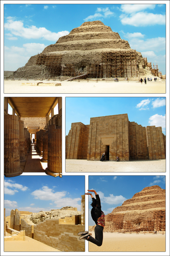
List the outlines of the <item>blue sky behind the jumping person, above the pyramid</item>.
{"label": "blue sky behind the jumping person, above the pyramid", "polygon": [[[100,197],[101,209],[105,215],[109,212],[112,212],[117,206],[121,206],[122,203],[133,197],[135,193],[140,192],[145,187],[158,185],[162,189],[165,189],[165,176],[162,175],[100,175],[100,176],[89,176],[88,179],[88,188],[94,189]],[[88,191],[86,191],[87,193]],[[93,197],[95,197],[92,192]],[[90,206],[92,200],[91,196],[86,195],[86,198],[89,197],[89,225],[95,225],[94,221],[91,218],[90,211],[92,207]]]}

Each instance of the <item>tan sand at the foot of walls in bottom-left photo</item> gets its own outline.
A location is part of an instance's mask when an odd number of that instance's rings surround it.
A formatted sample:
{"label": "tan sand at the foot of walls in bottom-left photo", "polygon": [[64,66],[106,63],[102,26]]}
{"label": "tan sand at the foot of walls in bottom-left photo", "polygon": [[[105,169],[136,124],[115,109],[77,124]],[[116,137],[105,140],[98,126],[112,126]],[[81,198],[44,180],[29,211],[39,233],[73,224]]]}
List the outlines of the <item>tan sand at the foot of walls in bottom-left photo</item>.
{"label": "tan sand at the foot of walls in bottom-left photo", "polygon": [[[6,236],[9,234],[6,233]],[[25,235],[25,241],[5,241],[4,252],[61,252]]]}

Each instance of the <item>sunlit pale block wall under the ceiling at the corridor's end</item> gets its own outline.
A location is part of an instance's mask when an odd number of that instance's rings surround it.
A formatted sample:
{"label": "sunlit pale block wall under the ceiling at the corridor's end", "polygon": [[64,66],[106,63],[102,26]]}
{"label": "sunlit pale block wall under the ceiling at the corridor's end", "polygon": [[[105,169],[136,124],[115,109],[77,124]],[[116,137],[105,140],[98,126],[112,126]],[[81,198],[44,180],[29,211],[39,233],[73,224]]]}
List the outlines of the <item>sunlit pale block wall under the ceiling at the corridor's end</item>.
{"label": "sunlit pale block wall under the ceiling at the corridor's end", "polygon": [[45,117],[21,117],[20,119],[24,121],[24,128],[43,129],[46,125]]}

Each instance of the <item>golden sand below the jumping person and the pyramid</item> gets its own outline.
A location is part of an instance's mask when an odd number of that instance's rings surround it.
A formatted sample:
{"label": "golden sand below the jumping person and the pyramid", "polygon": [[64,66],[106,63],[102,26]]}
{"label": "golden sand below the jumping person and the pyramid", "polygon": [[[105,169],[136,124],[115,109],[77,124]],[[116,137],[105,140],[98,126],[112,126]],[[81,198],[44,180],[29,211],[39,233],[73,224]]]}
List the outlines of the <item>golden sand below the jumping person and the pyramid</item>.
{"label": "golden sand below the jumping person and the pyramid", "polygon": [[[94,231],[90,231],[95,237]],[[165,252],[165,234],[152,233],[103,233],[103,244],[88,242],[89,252]]]}

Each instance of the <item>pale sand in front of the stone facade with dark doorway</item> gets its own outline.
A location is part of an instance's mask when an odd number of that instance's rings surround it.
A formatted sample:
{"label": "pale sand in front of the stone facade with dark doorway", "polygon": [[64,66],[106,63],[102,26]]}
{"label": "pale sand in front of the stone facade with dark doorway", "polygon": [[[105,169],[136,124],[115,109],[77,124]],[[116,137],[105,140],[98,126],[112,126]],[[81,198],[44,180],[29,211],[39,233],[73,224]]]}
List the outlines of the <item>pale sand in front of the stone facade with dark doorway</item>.
{"label": "pale sand in front of the stone facade with dark doorway", "polygon": [[128,162],[66,159],[65,172],[165,172],[166,160],[131,160]]}

